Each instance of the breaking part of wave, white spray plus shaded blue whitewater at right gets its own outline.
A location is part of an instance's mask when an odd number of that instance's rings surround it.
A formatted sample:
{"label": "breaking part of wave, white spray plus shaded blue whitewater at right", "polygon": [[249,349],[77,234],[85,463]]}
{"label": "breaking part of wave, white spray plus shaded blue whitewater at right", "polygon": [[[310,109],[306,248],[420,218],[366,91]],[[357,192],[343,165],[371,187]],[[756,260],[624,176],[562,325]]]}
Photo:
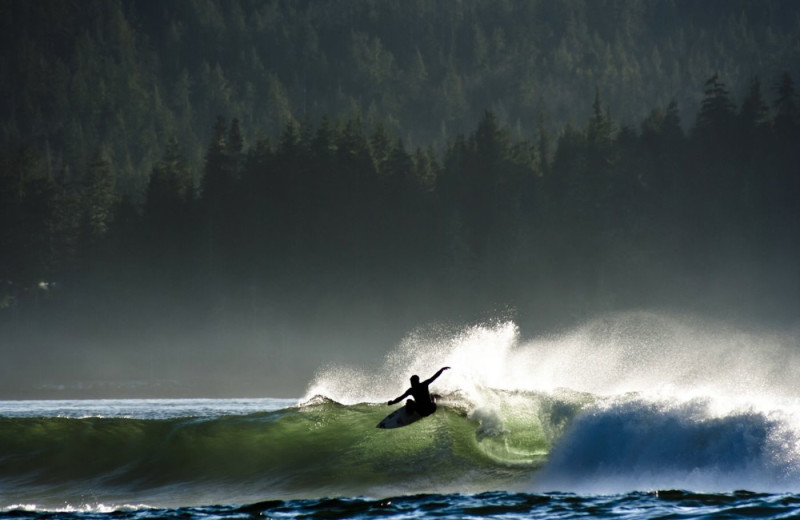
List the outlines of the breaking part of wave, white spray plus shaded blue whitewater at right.
{"label": "breaking part of wave, white spray plus shaded blue whitewater at right", "polygon": [[505,426],[502,398],[489,389],[595,396],[535,490],[800,491],[800,345],[791,334],[648,312],[529,341],[511,322],[431,329],[409,335],[377,370],[320,370],[308,394],[385,401],[411,374],[445,365],[452,370],[432,390],[463,395],[490,434]]}

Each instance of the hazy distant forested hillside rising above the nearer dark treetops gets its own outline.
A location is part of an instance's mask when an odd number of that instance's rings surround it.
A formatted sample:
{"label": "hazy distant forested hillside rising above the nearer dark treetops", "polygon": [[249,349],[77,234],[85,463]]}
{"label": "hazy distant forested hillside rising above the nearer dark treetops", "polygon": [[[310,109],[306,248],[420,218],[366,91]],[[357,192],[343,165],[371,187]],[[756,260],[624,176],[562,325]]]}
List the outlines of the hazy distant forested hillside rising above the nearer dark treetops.
{"label": "hazy distant forested hillside rising above the nearer dark treetops", "polygon": [[[141,197],[169,138],[195,170],[218,114],[273,141],[289,121],[360,112],[416,148],[468,134],[484,109],[534,139],[589,115],[678,102],[719,71],[797,77],[793,0],[0,0],[0,148],[33,146],[79,177],[98,148]],[[138,200],[140,201],[140,200]]]}

